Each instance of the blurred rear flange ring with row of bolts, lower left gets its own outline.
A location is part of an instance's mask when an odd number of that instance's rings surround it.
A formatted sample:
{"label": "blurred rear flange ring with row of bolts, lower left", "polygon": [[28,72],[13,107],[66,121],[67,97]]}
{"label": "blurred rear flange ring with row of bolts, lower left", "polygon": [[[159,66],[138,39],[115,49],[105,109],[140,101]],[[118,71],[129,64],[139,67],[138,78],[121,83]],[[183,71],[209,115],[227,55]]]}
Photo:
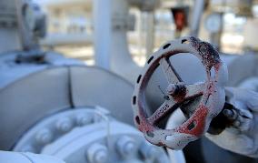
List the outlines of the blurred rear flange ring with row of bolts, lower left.
{"label": "blurred rear flange ring with row of bolts, lower left", "polygon": [[95,109],[92,107],[58,113],[45,118],[29,129],[16,143],[13,150],[40,153],[47,145],[69,134],[75,127],[91,125],[100,119],[101,117],[96,115]]}

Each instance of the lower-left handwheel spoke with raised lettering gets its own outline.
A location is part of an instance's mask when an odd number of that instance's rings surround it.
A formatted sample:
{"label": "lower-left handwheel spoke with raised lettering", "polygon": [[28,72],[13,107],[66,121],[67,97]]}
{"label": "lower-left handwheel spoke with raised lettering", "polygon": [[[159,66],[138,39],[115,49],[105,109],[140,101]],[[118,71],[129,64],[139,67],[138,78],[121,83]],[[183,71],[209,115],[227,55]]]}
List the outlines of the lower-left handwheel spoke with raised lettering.
{"label": "lower-left handwheel spoke with raised lettering", "polygon": [[171,110],[175,106],[173,100],[165,100],[161,107],[159,107],[154,114],[148,118],[149,122],[153,125],[156,121],[158,121],[161,117],[163,117],[167,112]]}

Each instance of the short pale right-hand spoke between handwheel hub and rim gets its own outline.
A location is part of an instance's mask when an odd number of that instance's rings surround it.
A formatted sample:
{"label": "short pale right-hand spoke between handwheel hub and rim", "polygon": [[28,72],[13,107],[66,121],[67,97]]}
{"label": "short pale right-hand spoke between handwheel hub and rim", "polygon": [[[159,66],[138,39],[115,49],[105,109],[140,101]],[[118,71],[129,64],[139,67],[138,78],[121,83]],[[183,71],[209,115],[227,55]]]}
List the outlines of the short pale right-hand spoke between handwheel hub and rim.
{"label": "short pale right-hand spoke between handwheel hub and rim", "polygon": [[198,97],[203,95],[205,86],[206,86],[205,83],[186,85],[185,87],[186,87],[187,93],[185,95],[185,98]]}

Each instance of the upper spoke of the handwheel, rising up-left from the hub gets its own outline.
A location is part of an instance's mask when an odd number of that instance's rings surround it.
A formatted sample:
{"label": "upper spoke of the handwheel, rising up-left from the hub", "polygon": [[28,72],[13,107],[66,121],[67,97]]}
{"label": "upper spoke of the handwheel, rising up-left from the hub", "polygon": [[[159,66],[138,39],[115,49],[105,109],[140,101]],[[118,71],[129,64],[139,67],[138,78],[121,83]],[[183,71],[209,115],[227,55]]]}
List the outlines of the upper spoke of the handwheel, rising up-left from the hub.
{"label": "upper spoke of the handwheel, rising up-left from the hub", "polygon": [[168,83],[182,82],[181,77],[177,74],[174,67],[171,65],[169,58],[161,58],[160,66],[162,66],[164,76],[166,77]]}

